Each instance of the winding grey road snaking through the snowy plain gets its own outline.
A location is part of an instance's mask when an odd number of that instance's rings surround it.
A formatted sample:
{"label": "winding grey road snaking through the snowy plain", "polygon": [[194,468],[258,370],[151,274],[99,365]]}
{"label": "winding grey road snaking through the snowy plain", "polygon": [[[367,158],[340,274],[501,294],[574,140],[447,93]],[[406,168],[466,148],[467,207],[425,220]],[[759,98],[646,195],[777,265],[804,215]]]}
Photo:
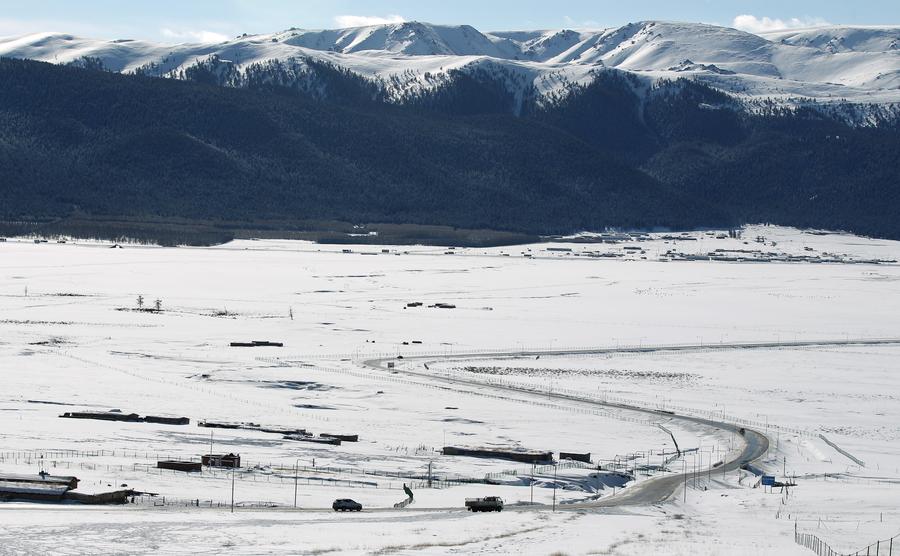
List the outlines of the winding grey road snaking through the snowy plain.
{"label": "winding grey road snaking through the snowy plain", "polygon": [[[840,341],[843,345],[858,345],[861,343],[898,343],[897,340],[867,340],[865,342],[862,341]],[[835,345],[833,343],[823,344],[822,342],[810,343],[810,342],[785,342],[785,343],[754,343],[754,344],[733,344],[733,349],[759,349],[759,348],[767,348],[767,347],[797,347],[797,346],[808,346],[808,345]],[[720,344],[716,344],[716,347],[720,347]],[[666,349],[670,350],[688,350],[688,349],[696,349],[699,346],[670,346]],[[570,355],[570,354],[584,354],[584,353],[609,353],[615,351],[656,351],[660,348],[609,348],[603,350],[572,350],[572,351],[555,351],[552,352],[552,355]],[[408,362],[411,360],[421,360],[423,362],[437,362],[441,360],[450,360],[450,359],[469,359],[469,358],[478,358],[478,359],[492,359],[492,358],[507,358],[507,357],[528,357],[535,355],[547,355],[548,352],[542,351],[539,353],[531,353],[531,352],[519,352],[515,354],[510,354],[508,352],[505,353],[477,353],[477,354],[454,354],[452,356],[421,356],[421,357],[407,357],[403,361]],[[372,369],[378,369],[381,371],[388,371],[387,363],[389,361],[397,361],[396,358],[384,358],[384,359],[372,359],[365,361],[363,363],[364,366]],[[403,373],[410,376],[416,376],[419,378],[425,378],[430,381],[440,381],[445,383],[452,383],[456,385],[465,385],[471,387],[477,387],[480,389],[494,389],[494,390],[503,390],[503,391],[512,391],[519,394],[524,394],[527,396],[540,396],[542,399],[546,399],[548,396],[551,398],[555,398],[558,400],[569,401],[582,405],[593,405],[600,406],[604,408],[614,408],[614,409],[623,409],[628,411],[634,411],[638,413],[650,414],[654,417],[660,417],[659,412],[644,409],[641,407],[630,406],[621,403],[612,403],[612,402],[602,402],[597,400],[589,400],[583,398],[577,398],[573,396],[569,396],[566,394],[559,393],[536,393],[532,390],[522,389],[515,386],[508,386],[502,384],[485,384],[483,382],[477,380],[466,380],[464,378],[457,377],[449,377],[449,376],[440,376],[437,374],[429,374],[429,373],[420,373],[417,371],[404,370],[402,368],[394,368],[390,369],[391,372]],[[666,413],[666,417],[676,421],[686,422],[692,425],[701,425],[707,426],[710,428],[726,431],[728,433],[735,433],[738,435],[738,438],[743,439],[744,449],[741,451],[739,455],[734,457],[731,460],[725,461],[723,465],[720,465],[715,468],[716,472],[728,472],[734,471],[735,469],[740,468],[745,463],[753,462],[759,459],[766,451],[769,449],[769,440],[768,438],[755,430],[745,428],[744,434],[740,435],[740,427],[736,425],[732,425],[730,423],[724,423],[719,421],[714,421],[710,419],[703,419],[700,417],[692,417],[688,415],[679,415],[679,414],[670,414]],[[724,467],[724,469],[723,469]],[[707,469],[704,469],[703,472],[707,472]],[[672,498],[672,496],[678,491],[679,487],[681,487],[685,483],[685,479],[693,476],[693,473],[682,474],[677,473],[673,475],[657,475],[655,477],[651,477],[645,481],[641,481],[636,483],[628,488],[622,489],[622,491],[614,496],[608,496],[601,498],[596,501],[591,502],[583,502],[577,504],[566,504],[562,506],[558,506],[561,510],[577,510],[577,509],[589,509],[589,508],[607,508],[607,507],[615,507],[615,506],[648,506],[653,504],[659,504],[665,502]],[[509,509],[539,509],[546,508],[548,506],[510,506]]]}

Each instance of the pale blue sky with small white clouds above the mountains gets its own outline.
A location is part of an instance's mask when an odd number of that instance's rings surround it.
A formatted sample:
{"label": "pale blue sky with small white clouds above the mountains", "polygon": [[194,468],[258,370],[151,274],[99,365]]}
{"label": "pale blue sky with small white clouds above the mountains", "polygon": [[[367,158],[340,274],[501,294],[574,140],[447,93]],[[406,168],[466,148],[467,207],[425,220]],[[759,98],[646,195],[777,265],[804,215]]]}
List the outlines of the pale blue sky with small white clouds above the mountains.
{"label": "pale blue sky with small white clouds above the mountains", "polygon": [[844,23],[900,24],[894,0],[0,0],[0,36],[65,31],[165,42],[217,40],[288,27],[379,21],[467,23],[483,31],[610,27],[644,19],[745,30]]}

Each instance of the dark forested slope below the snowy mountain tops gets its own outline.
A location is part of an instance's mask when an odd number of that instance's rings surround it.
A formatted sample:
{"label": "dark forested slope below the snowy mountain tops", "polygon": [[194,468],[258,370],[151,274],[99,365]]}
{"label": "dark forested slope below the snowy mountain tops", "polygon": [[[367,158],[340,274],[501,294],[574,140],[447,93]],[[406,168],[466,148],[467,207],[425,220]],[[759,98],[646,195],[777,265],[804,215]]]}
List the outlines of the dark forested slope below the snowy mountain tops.
{"label": "dark forested slope below the snowy mountain tops", "polygon": [[900,237],[900,131],[889,123],[752,115],[690,81],[639,96],[613,71],[518,115],[489,72],[453,74],[394,106],[358,76],[312,64],[331,94],[266,78],[298,67],[261,66],[252,87],[234,89],[218,86],[230,74],[216,64],[184,82],[2,59],[0,219],[525,234],[767,221]]}

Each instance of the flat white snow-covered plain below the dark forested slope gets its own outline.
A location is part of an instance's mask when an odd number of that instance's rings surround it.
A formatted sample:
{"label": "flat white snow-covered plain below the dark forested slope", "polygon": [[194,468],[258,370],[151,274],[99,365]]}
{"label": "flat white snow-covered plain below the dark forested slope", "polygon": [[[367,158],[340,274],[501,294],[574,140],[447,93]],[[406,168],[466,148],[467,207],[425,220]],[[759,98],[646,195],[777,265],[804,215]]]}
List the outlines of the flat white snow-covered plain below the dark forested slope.
{"label": "flat white snow-covered plain below the dark forested slope", "polygon": [[[873,263],[900,259],[900,243],[776,227],[690,236],[490,249],[0,242],[0,473],[156,495],[0,504],[0,553],[804,554],[795,527],[846,551],[900,532],[900,342],[827,343],[900,338],[900,265]],[[772,260],[678,260],[723,252]],[[284,346],[229,346],[253,340]],[[824,343],[728,347],[742,342]],[[674,345],[693,347],[642,351]],[[626,346],[640,349],[565,353]],[[393,371],[366,364],[386,358]],[[750,472],[709,469],[737,457],[733,433],[560,395],[753,423],[770,441],[756,465],[798,486],[766,492]],[[111,409],[191,423],[59,417]],[[210,446],[239,453],[242,469],[156,468]],[[594,464],[532,470],[443,446],[589,452]],[[664,504],[583,505],[694,466]],[[404,484],[415,502],[395,510]],[[488,495],[513,511],[464,511]],[[335,498],[366,511],[334,514]],[[529,507],[554,500],[561,511]]]}

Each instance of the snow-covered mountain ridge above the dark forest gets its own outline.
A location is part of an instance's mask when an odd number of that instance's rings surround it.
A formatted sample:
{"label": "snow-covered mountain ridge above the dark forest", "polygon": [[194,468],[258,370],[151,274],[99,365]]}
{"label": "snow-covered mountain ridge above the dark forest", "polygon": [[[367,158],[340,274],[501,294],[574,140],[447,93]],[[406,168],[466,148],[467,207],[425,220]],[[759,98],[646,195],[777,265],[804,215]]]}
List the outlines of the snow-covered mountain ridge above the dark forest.
{"label": "snow-covered mountain ridge above the dark forest", "polygon": [[688,77],[749,106],[851,103],[900,105],[900,28],[823,27],[750,34],[698,23],[647,21],[596,31],[483,33],[408,22],[337,30],[288,29],[218,44],[163,45],[66,34],[0,39],[0,56],[100,65],[124,73],[190,78],[214,72],[222,84],[250,80],[313,90],[313,62],[356,74],[384,98],[403,102],[454,72],[500,81],[518,102],[567,94],[610,68],[651,84]]}

